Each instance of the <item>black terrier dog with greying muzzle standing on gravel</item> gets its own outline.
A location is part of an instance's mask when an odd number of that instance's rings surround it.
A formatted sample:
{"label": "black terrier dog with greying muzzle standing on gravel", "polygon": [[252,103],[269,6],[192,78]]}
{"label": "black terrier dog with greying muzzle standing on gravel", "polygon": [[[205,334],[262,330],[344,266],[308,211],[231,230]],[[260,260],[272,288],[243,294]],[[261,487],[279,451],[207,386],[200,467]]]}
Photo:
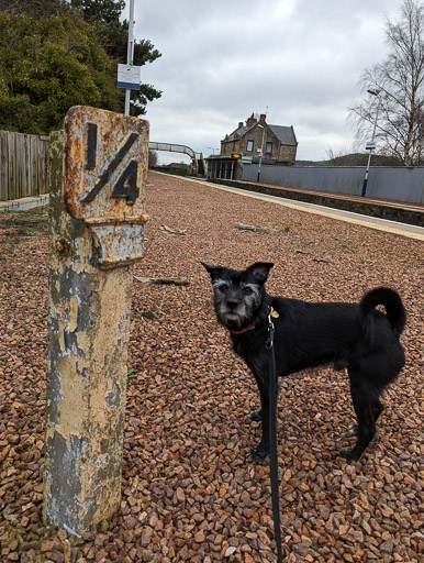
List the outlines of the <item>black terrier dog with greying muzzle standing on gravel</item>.
{"label": "black terrier dog with greying muzzle standing on gravel", "polygon": [[[277,376],[286,376],[326,362],[347,367],[358,424],[346,460],[359,460],[376,433],[383,406],[379,397],[405,363],[399,336],[406,322],[402,300],[393,289],[380,287],[359,303],[312,303],[269,296],[264,284],[274,264],[258,262],[245,271],[209,266],[217,320],[231,333],[233,349],[253,372],[259,387],[261,410],[250,415],[261,420],[263,438],[248,460],[264,460],[269,451],[268,369],[266,349],[269,314],[275,325]],[[387,314],[376,310],[378,305]],[[272,313],[270,312],[272,311]]]}

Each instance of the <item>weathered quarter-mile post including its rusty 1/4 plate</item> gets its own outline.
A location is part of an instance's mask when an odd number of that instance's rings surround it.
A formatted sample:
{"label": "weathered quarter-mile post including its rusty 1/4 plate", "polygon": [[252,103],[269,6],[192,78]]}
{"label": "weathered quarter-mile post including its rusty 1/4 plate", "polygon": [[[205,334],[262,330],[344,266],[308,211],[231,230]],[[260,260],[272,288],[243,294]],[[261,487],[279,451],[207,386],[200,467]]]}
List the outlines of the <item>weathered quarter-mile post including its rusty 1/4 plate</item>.
{"label": "weathered quarter-mile post including its rusty 1/4 plate", "polygon": [[148,123],[76,107],[51,141],[44,519],[80,532],[120,506]]}

